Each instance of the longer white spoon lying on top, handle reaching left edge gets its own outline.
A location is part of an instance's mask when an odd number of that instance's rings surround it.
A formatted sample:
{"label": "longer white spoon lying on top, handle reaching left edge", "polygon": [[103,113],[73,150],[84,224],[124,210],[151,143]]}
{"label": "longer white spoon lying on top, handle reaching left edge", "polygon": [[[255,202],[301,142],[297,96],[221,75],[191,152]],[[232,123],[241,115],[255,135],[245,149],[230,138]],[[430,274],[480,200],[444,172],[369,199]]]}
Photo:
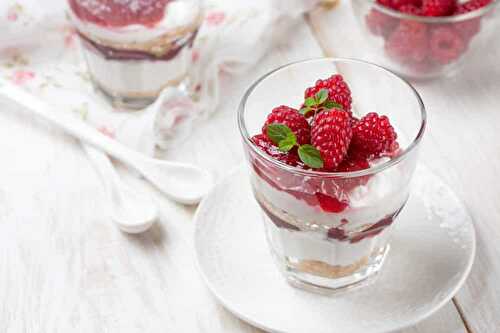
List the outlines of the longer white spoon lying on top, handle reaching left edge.
{"label": "longer white spoon lying on top, handle reaching left edge", "polygon": [[68,134],[135,168],[172,200],[183,204],[198,203],[213,186],[213,179],[208,172],[193,165],[158,160],[135,152],[71,115],[52,111],[49,104],[2,79],[0,93]]}

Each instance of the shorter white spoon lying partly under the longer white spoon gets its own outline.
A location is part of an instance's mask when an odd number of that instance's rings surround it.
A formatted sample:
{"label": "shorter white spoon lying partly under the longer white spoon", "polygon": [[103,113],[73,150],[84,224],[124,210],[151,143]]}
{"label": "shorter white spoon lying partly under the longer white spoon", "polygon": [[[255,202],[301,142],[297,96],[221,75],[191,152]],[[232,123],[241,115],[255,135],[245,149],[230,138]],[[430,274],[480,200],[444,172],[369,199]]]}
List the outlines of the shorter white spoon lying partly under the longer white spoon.
{"label": "shorter white spoon lying partly under the longer white spoon", "polygon": [[82,146],[104,183],[113,222],[122,231],[131,234],[148,230],[158,218],[158,208],[153,199],[125,185],[106,154],[91,146]]}

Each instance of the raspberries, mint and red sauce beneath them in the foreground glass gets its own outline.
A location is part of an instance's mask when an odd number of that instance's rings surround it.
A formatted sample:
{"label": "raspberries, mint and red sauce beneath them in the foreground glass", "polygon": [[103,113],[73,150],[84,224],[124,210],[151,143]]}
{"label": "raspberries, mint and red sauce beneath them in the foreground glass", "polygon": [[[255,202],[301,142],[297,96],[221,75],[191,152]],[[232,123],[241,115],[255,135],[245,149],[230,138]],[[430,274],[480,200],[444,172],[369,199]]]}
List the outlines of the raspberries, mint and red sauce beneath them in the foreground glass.
{"label": "raspberries, mint and red sauce beneath them in the foreground glass", "polygon": [[[352,113],[351,90],[341,75],[332,75],[304,92],[300,109],[274,108],[252,137],[253,144],[273,159],[303,170],[354,172],[370,168],[381,157],[399,151],[397,135],[386,116]],[[366,184],[369,176],[304,179],[254,162],[256,172],[271,186],[326,212],[348,207],[345,193]]]}

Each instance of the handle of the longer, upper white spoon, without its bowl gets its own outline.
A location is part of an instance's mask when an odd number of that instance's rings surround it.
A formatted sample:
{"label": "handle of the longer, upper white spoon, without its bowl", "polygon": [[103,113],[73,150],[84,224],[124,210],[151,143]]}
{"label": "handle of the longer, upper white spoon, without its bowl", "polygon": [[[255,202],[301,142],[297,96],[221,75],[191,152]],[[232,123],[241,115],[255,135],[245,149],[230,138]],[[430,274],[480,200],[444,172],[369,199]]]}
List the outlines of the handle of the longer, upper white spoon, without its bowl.
{"label": "handle of the longer, upper white spoon, without its bowl", "polygon": [[107,152],[129,165],[135,166],[135,162],[138,159],[145,158],[142,154],[99,133],[94,128],[84,124],[81,120],[76,119],[76,117],[65,112],[56,113],[52,111],[52,107],[49,104],[3,79],[0,79],[0,93],[11,101],[24,106],[25,109],[30,110],[39,117],[57,125],[60,129],[74,137]]}

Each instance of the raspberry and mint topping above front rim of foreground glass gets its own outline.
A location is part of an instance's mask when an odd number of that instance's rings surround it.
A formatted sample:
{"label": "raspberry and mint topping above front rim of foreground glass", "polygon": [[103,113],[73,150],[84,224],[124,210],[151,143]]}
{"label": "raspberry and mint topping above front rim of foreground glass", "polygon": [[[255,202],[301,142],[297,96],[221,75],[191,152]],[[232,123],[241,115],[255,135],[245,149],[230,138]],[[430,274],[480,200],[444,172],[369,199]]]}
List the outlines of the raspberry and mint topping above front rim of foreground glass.
{"label": "raspberry and mint topping above front rim of foreground glass", "polygon": [[300,110],[278,106],[252,141],[273,158],[302,169],[356,171],[398,148],[386,116],[351,112],[351,90],[339,75],[318,80],[304,93]]}

